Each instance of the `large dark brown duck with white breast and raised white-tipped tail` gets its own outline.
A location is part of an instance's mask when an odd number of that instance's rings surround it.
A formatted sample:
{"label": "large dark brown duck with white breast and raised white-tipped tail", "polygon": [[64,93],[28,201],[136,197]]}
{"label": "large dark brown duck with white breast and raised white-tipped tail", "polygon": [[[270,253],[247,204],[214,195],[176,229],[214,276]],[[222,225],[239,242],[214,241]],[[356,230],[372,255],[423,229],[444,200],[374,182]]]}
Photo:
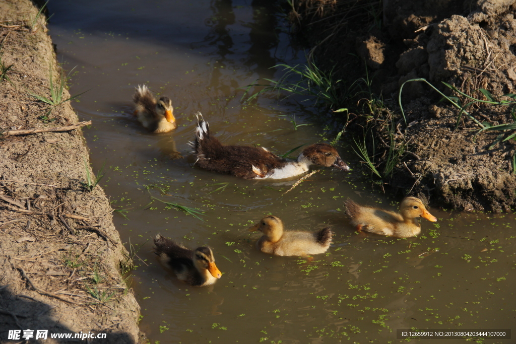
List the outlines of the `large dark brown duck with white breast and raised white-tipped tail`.
{"label": "large dark brown duck with white breast and raised white-tipped tail", "polygon": [[281,158],[267,149],[250,146],[224,145],[209,132],[200,112],[197,112],[195,142],[190,142],[197,156],[197,165],[208,171],[232,174],[244,179],[293,178],[307,172],[311,165],[336,167],[349,171],[337,151],[327,143],[305,148],[297,161]]}

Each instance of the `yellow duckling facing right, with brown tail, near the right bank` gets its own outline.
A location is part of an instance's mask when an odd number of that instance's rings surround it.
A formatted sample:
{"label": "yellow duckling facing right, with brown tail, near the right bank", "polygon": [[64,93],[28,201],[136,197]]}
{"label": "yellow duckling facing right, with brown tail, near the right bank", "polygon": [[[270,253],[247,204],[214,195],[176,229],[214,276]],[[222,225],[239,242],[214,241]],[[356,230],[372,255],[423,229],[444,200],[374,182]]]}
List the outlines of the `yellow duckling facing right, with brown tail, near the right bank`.
{"label": "yellow duckling facing right, with brown tail, near the right bank", "polygon": [[415,197],[407,197],[399,204],[398,214],[394,211],[357,204],[347,200],[346,212],[357,232],[366,231],[396,238],[410,238],[421,233],[421,225],[416,218],[424,217],[436,222],[437,218],[426,210],[423,202]]}

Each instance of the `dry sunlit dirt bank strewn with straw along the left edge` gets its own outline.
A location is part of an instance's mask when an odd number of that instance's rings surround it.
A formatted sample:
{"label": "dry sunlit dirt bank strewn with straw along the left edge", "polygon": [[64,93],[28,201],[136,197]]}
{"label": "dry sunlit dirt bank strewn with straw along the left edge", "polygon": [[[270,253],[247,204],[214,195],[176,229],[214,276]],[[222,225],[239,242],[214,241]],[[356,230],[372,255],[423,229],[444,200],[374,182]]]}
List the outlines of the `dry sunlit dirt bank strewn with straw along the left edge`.
{"label": "dry sunlit dirt bank strewn with straw along the left edge", "polygon": [[[0,341],[21,342],[28,329],[29,342],[80,332],[106,334],[89,342],[140,342],[139,306],[120,273],[128,253],[104,191],[83,184],[89,157],[81,129],[8,133],[78,122],[69,102],[47,114],[29,95],[51,96],[49,67],[59,90],[46,17],[25,0],[0,3],[0,13],[1,61],[12,65],[0,81]],[[22,330],[20,338],[8,339],[9,330]],[[48,330],[48,339],[36,340],[36,330]]]}

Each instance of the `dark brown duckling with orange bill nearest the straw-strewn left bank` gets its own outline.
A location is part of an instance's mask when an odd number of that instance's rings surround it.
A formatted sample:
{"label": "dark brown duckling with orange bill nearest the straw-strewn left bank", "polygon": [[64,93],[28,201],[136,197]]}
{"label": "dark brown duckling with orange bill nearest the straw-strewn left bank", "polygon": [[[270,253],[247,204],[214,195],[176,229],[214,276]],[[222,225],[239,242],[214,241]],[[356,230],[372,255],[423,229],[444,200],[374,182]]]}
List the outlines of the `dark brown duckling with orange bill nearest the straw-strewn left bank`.
{"label": "dark brown duckling with orange bill nearest the straw-strewn left bank", "polygon": [[172,268],[179,280],[189,285],[200,287],[211,285],[222,276],[209,247],[203,246],[190,250],[158,234],[154,238],[153,250]]}

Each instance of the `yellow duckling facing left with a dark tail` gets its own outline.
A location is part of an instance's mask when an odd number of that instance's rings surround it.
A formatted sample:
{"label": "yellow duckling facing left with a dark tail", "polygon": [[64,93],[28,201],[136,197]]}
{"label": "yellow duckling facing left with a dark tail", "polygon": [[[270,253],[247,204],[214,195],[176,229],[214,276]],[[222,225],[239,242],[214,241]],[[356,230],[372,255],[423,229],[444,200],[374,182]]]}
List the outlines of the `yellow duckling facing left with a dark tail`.
{"label": "yellow duckling facing left with a dark tail", "polygon": [[330,227],[318,232],[283,231],[283,222],[276,216],[266,216],[249,228],[250,232],[261,231],[263,236],[256,247],[277,256],[307,256],[324,253],[331,244],[333,232]]}

